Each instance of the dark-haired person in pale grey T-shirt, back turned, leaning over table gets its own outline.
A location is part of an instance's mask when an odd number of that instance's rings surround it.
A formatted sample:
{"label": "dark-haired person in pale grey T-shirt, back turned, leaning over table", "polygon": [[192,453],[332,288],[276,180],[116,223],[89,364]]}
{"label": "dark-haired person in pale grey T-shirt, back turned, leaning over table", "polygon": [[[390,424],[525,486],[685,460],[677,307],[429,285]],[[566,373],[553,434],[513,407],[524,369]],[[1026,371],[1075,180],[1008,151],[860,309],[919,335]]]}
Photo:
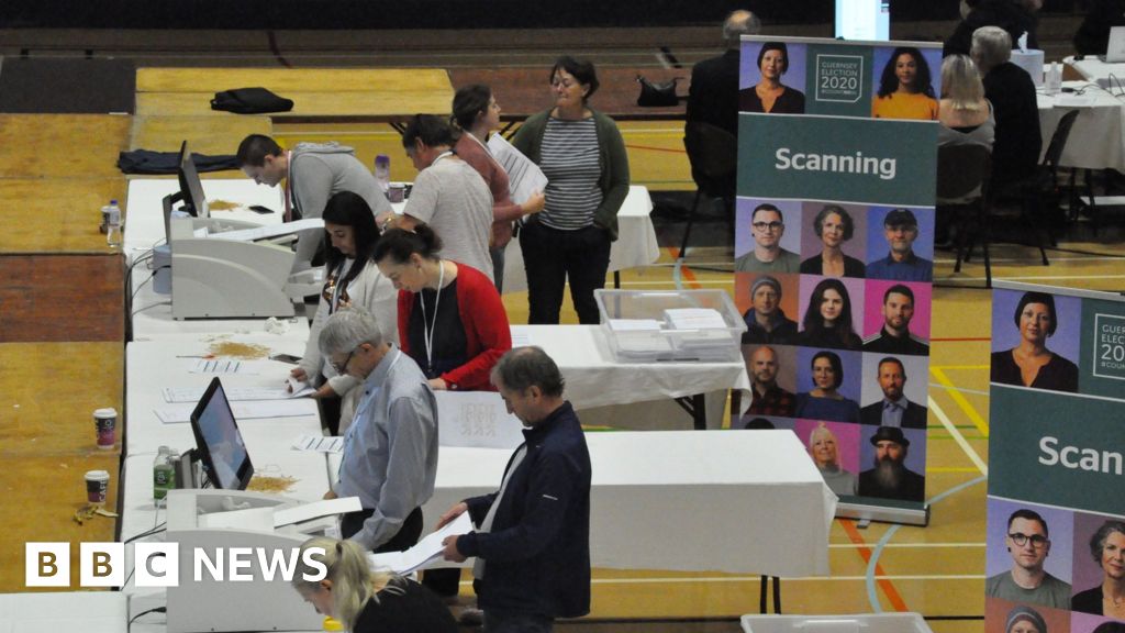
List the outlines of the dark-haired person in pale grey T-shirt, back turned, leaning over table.
{"label": "dark-haired person in pale grey T-shirt, back turned, leaning over table", "polygon": [[453,128],[433,115],[417,115],[403,133],[403,148],[418,176],[403,215],[378,216],[382,231],[410,231],[425,222],[446,242],[446,255],[493,280],[493,198],[476,169],[453,152]]}

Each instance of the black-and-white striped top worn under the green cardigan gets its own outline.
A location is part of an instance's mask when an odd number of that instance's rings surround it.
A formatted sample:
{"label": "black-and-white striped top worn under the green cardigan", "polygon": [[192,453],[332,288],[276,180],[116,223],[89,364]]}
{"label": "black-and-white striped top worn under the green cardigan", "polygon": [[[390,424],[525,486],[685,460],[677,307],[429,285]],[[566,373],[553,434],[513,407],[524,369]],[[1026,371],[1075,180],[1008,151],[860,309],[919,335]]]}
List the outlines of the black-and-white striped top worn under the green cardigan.
{"label": "black-and-white striped top worn under the green cardigan", "polygon": [[543,132],[539,168],[547,176],[547,204],[539,221],[551,229],[575,231],[594,223],[602,204],[594,118],[564,121],[551,117]]}

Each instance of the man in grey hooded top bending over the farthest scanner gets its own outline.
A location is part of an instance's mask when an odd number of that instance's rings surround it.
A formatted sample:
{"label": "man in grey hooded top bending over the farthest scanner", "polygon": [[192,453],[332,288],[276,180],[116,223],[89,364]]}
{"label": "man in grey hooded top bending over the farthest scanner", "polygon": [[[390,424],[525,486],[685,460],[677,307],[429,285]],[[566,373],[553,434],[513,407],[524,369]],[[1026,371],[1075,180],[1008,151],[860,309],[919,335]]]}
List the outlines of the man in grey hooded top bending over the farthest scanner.
{"label": "man in grey hooded top bending over the farthest scanner", "polygon": [[[297,143],[285,151],[277,141],[251,134],[238,145],[242,171],[259,185],[276,187],[286,180],[286,222],[320,217],[333,194],[358,194],[371,213],[390,212],[390,203],[375,176],[351,148],[332,143]],[[309,229],[297,237],[294,270],[307,268],[324,241],[324,231]]]}

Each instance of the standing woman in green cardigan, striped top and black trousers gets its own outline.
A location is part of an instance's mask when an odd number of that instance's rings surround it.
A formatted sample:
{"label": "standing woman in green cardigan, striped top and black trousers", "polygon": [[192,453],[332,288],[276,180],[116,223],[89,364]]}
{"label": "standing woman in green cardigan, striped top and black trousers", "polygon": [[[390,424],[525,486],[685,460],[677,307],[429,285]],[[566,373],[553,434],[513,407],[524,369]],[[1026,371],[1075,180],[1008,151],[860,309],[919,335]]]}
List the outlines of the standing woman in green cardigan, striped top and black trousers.
{"label": "standing woman in green cardigan, striped top and black trousers", "polygon": [[559,322],[569,278],[578,322],[597,324],[594,289],[605,286],[610,242],[629,194],[629,158],[613,119],[588,105],[598,86],[594,64],[559,57],[550,80],[555,107],[528,117],[512,139],[548,179],[542,213],[520,230],[529,322]]}

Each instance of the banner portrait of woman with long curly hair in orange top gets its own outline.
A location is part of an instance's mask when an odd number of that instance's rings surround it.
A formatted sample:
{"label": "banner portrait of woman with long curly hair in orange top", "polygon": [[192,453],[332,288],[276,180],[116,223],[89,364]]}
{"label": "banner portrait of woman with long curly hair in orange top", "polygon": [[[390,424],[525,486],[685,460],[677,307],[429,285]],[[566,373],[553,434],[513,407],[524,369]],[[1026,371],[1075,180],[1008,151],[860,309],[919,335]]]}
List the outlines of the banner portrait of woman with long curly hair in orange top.
{"label": "banner portrait of woman with long curly hair in orange top", "polygon": [[891,53],[879,80],[879,92],[871,101],[871,116],[937,121],[937,99],[921,51],[899,46]]}

